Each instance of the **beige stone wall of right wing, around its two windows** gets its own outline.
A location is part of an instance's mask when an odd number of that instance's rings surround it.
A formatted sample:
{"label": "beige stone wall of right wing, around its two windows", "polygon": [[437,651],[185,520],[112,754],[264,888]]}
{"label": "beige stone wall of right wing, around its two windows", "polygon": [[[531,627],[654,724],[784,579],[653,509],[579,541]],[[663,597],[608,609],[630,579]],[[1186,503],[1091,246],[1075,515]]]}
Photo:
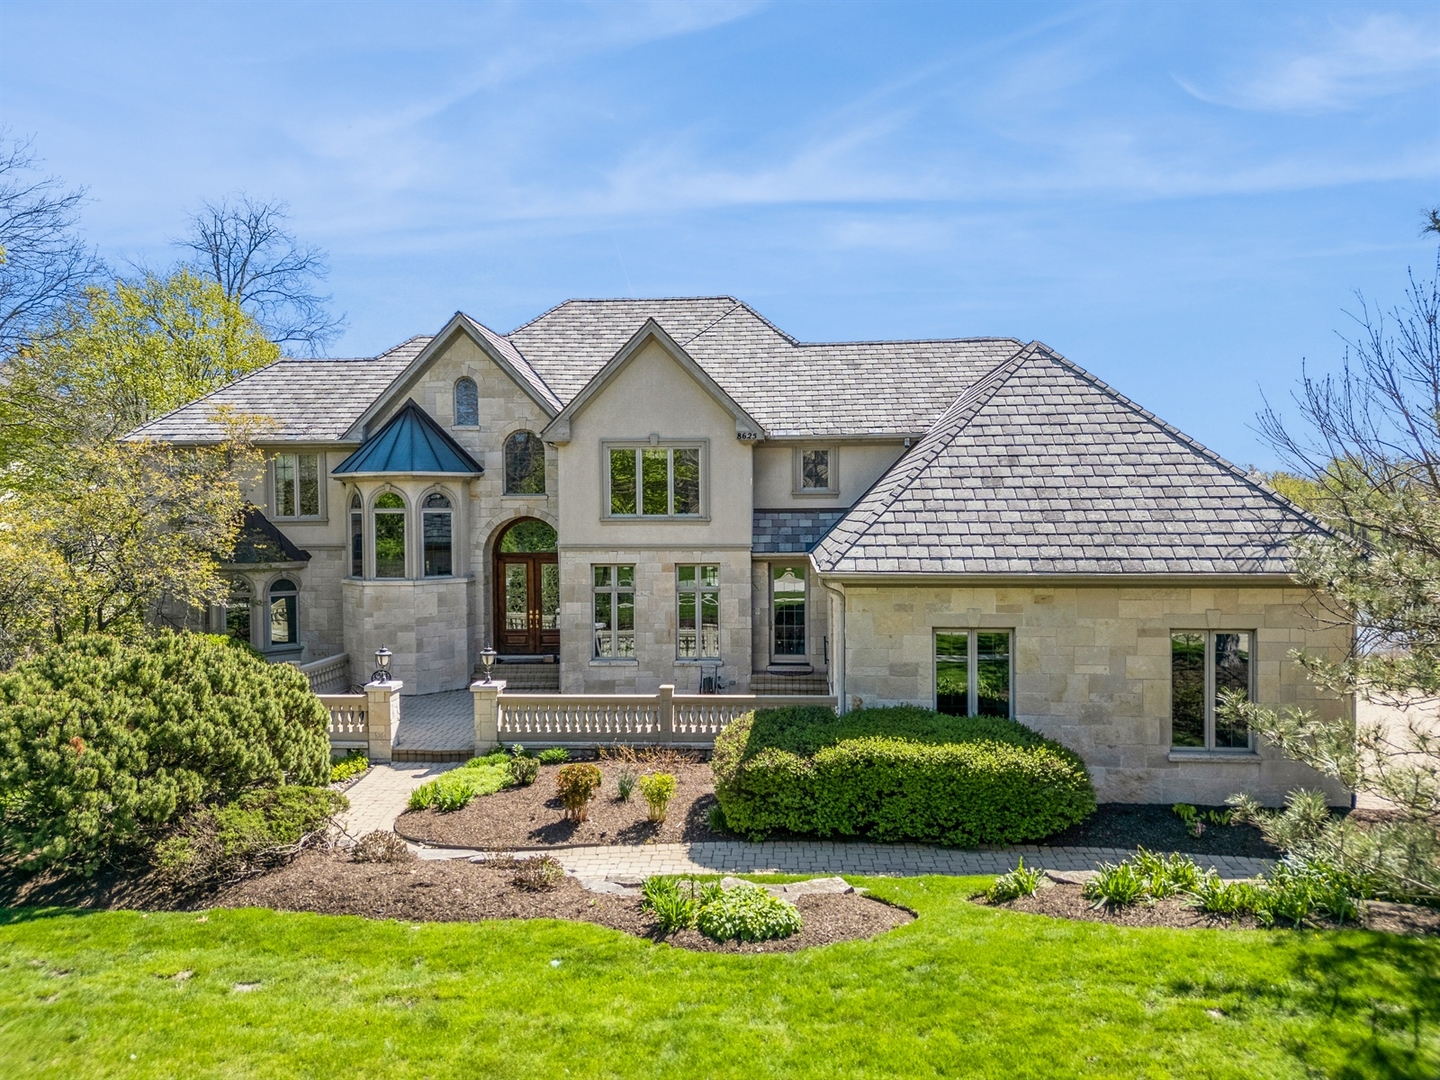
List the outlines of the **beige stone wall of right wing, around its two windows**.
{"label": "beige stone wall of right wing, around its two windows", "polygon": [[1261,746],[1236,760],[1169,752],[1172,629],[1256,634],[1259,700],[1344,714],[1305,678],[1295,648],[1339,655],[1349,634],[1319,626],[1297,588],[845,586],[845,694],[864,704],[933,706],[933,634],[1014,631],[1015,717],[1080,753],[1102,802],[1218,804],[1246,791],[1279,804],[1333,782]]}

